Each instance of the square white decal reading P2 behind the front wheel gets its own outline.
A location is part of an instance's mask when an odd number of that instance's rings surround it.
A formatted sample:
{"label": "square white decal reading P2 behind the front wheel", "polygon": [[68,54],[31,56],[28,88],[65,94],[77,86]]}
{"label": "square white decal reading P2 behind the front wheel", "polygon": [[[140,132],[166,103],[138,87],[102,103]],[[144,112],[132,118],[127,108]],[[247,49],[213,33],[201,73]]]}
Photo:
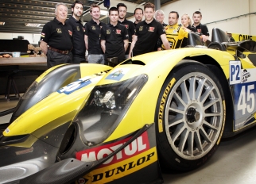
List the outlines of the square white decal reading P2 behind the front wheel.
{"label": "square white decal reading P2 behind the front wheel", "polygon": [[229,62],[229,83],[237,84],[242,82],[241,62],[230,61]]}

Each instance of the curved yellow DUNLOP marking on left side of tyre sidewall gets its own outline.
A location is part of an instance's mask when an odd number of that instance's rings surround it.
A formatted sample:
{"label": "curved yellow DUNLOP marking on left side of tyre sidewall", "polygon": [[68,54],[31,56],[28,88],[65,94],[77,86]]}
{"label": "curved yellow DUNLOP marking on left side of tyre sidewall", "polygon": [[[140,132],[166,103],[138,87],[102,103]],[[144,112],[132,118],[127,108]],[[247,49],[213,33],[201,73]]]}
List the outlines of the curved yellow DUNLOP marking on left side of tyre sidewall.
{"label": "curved yellow DUNLOP marking on left side of tyre sidewall", "polygon": [[163,94],[163,96],[161,97],[161,103],[159,106],[159,111],[158,111],[158,132],[163,132],[164,128],[163,128],[163,120],[164,120],[164,115],[165,115],[165,102],[167,100],[168,94],[174,84],[174,82],[176,82],[176,79],[173,78],[171,80],[171,82],[169,82],[168,86],[166,86],[165,88],[165,92]]}

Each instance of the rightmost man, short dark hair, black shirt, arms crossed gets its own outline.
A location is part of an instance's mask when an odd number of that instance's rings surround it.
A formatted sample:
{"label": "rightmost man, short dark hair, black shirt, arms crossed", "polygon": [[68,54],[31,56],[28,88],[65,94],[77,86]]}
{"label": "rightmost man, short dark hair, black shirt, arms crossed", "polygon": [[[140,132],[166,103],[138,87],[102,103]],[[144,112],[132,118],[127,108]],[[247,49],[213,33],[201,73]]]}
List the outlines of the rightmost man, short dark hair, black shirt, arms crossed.
{"label": "rightmost man, short dark hair, black shirt, arms crossed", "polygon": [[193,13],[194,24],[192,25],[192,27],[196,29],[197,33],[200,33],[200,35],[203,38],[203,41],[206,42],[210,34],[208,32],[208,27],[200,23],[201,19],[202,13],[200,11],[196,11],[195,13]]}

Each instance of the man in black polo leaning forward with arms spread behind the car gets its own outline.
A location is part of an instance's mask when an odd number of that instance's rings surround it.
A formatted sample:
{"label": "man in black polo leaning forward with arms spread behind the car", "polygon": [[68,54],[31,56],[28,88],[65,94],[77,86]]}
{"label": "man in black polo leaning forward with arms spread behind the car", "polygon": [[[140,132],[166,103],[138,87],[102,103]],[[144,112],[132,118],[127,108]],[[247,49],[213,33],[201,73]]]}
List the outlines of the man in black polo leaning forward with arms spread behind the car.
{"label": "man in black polo leaning forward with arms spread behind the car", "polygon": [[161,41],[165,45],[165,48],[170,48],[163,25],[153,18],[154,11],[155,6],[152,3],[145,3],[145,20],[139,22],[136,26],[134,40],[130,45],[129,58],[131,56],[153,52],[159,36],[161,37]]}

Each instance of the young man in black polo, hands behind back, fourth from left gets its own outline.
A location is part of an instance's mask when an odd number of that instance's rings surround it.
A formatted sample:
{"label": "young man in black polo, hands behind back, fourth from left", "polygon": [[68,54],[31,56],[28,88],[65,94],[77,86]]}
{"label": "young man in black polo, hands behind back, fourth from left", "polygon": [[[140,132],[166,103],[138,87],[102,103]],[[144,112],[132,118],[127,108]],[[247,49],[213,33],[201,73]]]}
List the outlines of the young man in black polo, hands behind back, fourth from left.
{"label": "young man in black polo, hands behind back, fourth from left", "polygon": [[[100,43],[107,58],[118,57],[118,63],[126,59],[128,47],[128,33],[124,25],[118,23],[118,9],[111,7],[109,10],[110,23],[101,29]],[[106,63],[106,62],[105,62]]]}

